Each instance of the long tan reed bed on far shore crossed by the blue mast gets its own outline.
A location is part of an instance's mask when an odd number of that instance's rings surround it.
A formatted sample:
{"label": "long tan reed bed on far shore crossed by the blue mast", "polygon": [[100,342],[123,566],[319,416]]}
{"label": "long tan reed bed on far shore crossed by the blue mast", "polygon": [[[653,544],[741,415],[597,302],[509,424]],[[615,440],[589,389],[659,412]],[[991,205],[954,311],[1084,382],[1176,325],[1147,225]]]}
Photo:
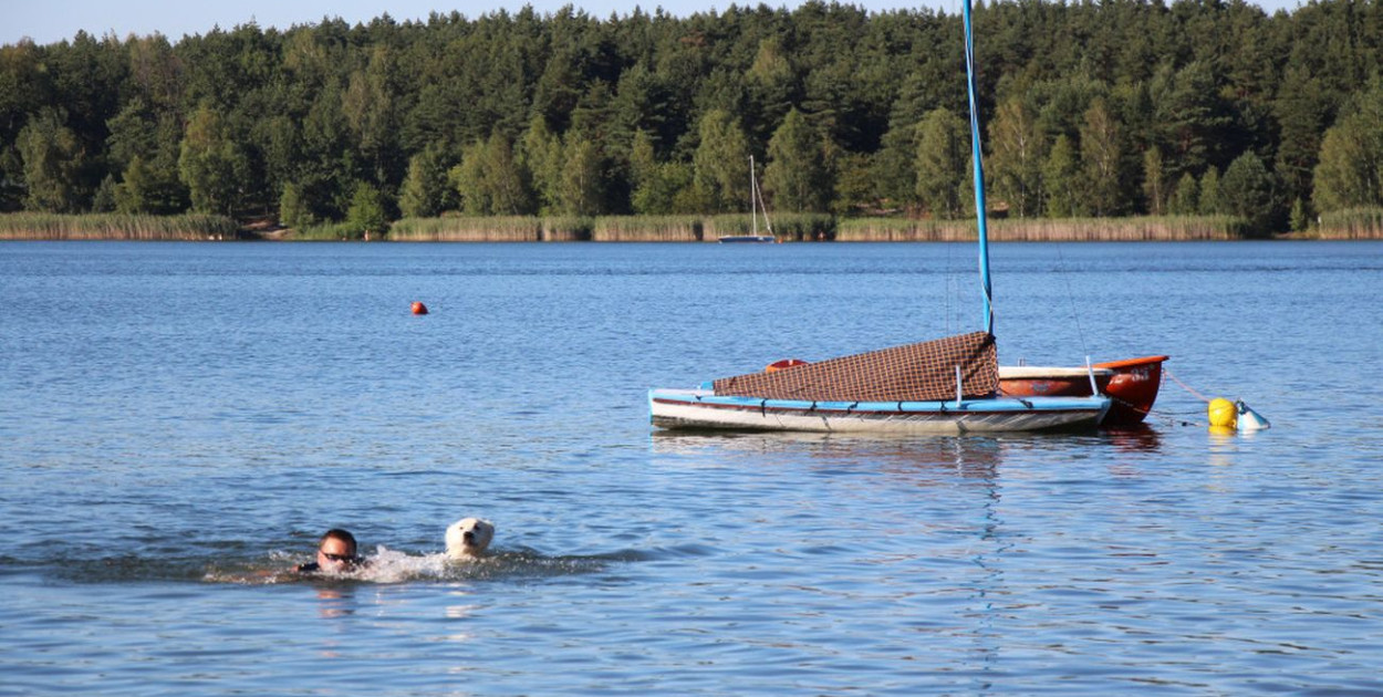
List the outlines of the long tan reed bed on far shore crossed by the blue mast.
{"label": "long tan reed bed on far shore crossed by the blue mast", "polygon": [[[835,231],[838,242],[964,242],[978,235],[974,220],[846,219]],[[996,219],[989,238],[996,242],[1171,242],[1243,239],[1247,225],[1231,216],[1122,219]]]}

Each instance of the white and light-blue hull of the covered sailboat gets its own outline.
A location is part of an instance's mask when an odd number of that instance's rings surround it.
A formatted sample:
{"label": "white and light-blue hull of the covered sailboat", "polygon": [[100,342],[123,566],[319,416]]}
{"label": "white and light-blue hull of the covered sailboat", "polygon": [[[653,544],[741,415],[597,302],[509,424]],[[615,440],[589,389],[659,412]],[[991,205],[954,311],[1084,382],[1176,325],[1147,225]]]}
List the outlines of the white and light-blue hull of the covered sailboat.
{"label": "white and light-blue hull of the covered sailboat", "polygon": [[660,429],[954,436],[1094,429],[1106,409],[1105,397],[809,402],[716,396],[711,390],[649,391],[651,420]]}

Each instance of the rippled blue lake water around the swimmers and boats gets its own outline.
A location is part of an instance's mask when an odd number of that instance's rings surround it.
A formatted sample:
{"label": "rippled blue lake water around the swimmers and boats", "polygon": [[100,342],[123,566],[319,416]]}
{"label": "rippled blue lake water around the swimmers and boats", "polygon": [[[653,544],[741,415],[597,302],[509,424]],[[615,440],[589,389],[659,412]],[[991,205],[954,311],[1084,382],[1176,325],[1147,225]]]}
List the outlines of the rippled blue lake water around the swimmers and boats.
{"label": "rippled blue lake water around the swimmers and boats", "polygon": [[[1170,354],[1257,434],[1173,382],[1134,434],[650,433],[974,331],[974,266],[0,243],[0,694],[1383,693],[1383,243],[994,248],[1003,362]],[[365,578],[274,575],[333,526]]]}

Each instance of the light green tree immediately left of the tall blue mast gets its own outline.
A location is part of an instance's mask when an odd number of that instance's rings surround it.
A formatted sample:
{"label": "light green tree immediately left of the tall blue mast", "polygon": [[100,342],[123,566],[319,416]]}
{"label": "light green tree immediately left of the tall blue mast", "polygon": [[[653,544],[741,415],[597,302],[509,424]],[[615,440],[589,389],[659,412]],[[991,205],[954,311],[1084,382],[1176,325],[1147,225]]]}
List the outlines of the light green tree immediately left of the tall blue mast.
{"label": "light green tree immediately left of the tall blue mast", "polygon": [[957,219],[965,212],[967,129],[967,123],[946,108],[934,109],[917,126],[917,196],[938,219]]}

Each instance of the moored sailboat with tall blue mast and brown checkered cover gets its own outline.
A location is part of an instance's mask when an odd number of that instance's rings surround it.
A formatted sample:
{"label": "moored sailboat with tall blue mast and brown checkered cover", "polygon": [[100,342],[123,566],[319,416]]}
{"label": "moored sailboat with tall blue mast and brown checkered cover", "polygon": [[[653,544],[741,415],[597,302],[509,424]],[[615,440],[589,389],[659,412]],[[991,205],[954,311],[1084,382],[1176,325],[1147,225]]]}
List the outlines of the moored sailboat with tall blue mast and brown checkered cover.
{"label": "moored sailboat with tall blue mast and brown checkered cover", "polygon": [[[909,434],[1010,433],[1094,429],[1109,411],[1111,400],[1102,394],[1003,397],[999,393],[969,0],[965,0],[964,17],[985,329],[772,372],[722,378],[692,390],[653,389],[649,390],[653,426]],[[1090,380],[1095,382],[1094,373]]]}

